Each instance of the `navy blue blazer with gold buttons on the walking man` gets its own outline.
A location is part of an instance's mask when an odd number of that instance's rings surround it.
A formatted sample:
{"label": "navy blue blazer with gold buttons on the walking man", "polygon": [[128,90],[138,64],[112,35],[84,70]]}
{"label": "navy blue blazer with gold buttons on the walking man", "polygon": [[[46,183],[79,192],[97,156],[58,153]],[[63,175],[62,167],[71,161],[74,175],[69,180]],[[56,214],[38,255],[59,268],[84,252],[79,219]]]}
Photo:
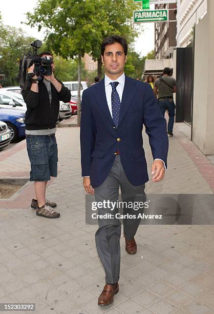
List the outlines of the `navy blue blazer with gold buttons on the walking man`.
{"label": "navy blue blazer with gold buttons on the walking man", "polygon": [[104,78],[83,91],[80,127],[82,176],[90,175],[93,187],[101,185],[109,175],[117,150],[127,179],[135,186],[148,181],[143,124],[153,158],[162,159],[167,165],[166,121],[149,84],[125,76],[118,128],[106,101]]}

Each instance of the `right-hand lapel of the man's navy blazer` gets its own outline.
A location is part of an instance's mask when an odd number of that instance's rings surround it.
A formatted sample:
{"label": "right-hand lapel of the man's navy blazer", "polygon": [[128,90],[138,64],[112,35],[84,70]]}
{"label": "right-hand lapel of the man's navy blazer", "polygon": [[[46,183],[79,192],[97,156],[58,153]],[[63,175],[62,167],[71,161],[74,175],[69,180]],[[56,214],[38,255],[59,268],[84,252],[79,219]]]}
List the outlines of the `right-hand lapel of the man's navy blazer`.
{"label": "right-hand lapel of the man's navy blazer", "polygon": [[119,113],[119,124],[123,119],[123,116],[125,115],[127,109],[129,108],[132,99],[136,93],[135,84],[136,82],[134,80],[132,80],[129,76],[125,76],[125,84],[123,88],[122,101]]}

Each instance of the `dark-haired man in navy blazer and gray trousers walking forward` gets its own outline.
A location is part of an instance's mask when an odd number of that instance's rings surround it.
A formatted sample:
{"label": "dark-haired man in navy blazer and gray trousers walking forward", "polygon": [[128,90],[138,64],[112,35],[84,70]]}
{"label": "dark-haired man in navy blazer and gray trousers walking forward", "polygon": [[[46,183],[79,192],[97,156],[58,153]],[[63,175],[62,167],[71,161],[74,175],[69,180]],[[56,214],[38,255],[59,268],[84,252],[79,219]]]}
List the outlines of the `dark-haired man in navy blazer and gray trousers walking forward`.
{"label": "dark-haired man in navy blazer and gray trousers walking forward", "polygon": [[[153,182],[164,178],[168,152],[166,121],[150,85],[124,74],[127,43],[113,35],[101,45],[105,77],[82,94],[81,166],[83,186],[95,194],[97,202],[145,200],[148,181],[143,149],[143,124],[149,137],[154,162]],[[114,219],[98,219],[95,234],[97,251],[105,270],[105,286],[98,305],[109,305],[119,291],[121,223],[115,218],[118,208],[98,209],[98,214],[113,213]],[[129,209],[126,209],[129,213]],[[135,254],[134,235],[138,220],[123,220],[125,250]]]}

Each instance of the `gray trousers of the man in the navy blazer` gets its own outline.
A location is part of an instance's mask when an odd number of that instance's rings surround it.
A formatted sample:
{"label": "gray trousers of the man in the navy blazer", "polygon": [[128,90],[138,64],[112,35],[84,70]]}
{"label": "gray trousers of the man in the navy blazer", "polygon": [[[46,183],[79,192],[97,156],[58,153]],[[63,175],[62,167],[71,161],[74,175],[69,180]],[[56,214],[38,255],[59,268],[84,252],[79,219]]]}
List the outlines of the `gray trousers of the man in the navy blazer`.
{"label": "gray trousers of the man in the navy blazer", "polygon": [[[145,202],[145,184],[134,186],[127,180],[120,156],[115,156],[111,172],[106,180],[94,189],[96,202],[116,202],[119,198],[119,188],[123,202]],[[118,208],[99,208],[98,214],[116,214]],[[136,214],[143,209],[123,208],[123,214]],[[131,240],[139,226],[140,219],[123,219],[123,232],[127,239]],[[121,223],[119,219],[98,219],[99,229],[95,233],[95,240],[99,258],[105,270],[105,282],[114,284],[118,282],[120,275],[120,235]]]}

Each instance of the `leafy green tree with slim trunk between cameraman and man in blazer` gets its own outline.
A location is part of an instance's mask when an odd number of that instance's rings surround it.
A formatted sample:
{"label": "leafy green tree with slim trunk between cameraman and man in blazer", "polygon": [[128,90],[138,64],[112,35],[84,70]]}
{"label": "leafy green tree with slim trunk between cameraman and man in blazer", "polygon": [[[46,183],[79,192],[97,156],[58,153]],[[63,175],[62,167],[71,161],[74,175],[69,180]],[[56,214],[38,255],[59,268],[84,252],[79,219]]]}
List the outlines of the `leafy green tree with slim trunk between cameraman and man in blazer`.
{"label": "leafy green tree with slim trunk between cameraman and man in blazer", "polygon": [[78,125],[80,125],[81,58],[92,51],[94,37],[108,29],[105,8],[97,0],[39,0],[28,24],[47,28],[46,40],[56,54],[78,60]]}

